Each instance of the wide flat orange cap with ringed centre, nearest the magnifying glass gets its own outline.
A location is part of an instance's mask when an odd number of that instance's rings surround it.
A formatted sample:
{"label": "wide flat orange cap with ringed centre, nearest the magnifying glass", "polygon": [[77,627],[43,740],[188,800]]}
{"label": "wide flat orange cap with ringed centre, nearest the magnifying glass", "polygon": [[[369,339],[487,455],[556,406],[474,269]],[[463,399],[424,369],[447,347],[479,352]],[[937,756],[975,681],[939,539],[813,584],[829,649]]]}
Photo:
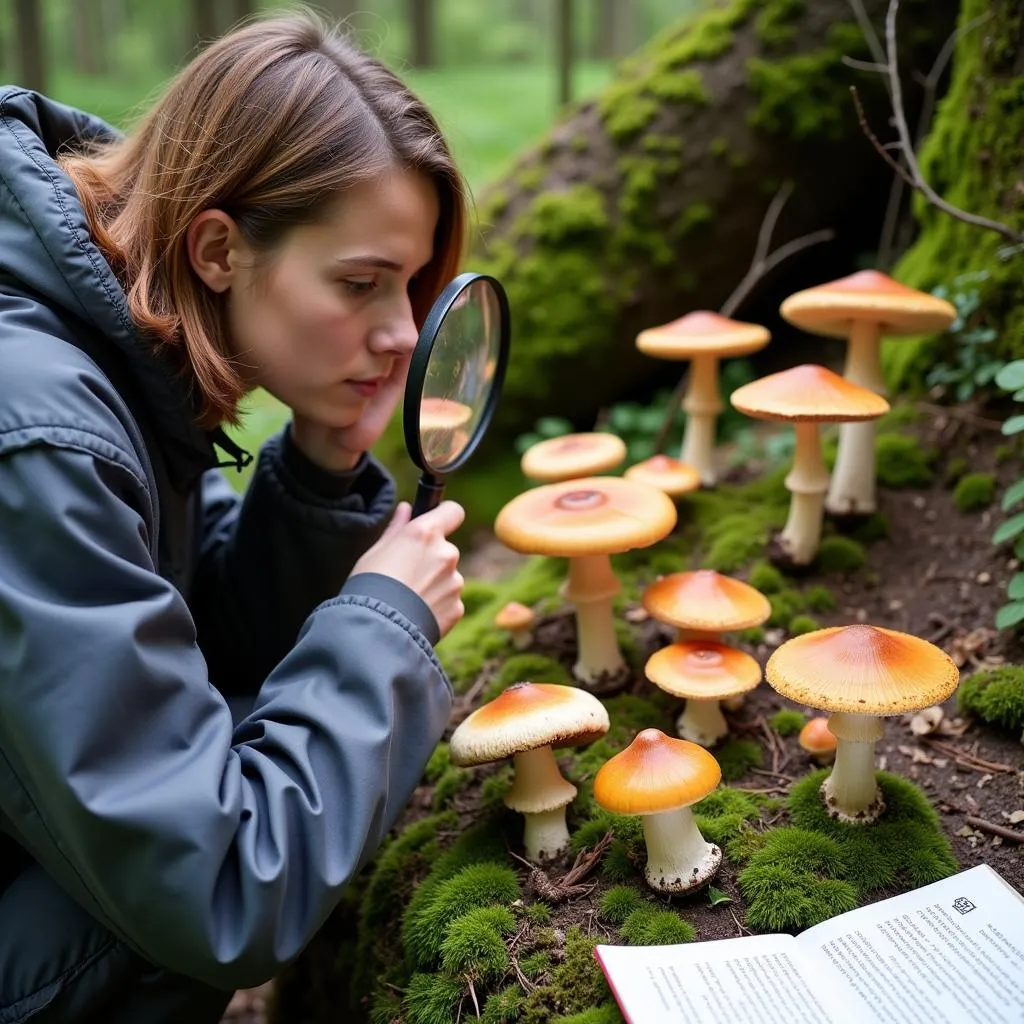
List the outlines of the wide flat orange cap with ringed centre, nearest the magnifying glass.
{"label": "wide flat orange cap with ringed centre, nearest the magnifying glass", "polygon": [[645,548],[676,524],[668,495],[616,476],[546,483],[513,498],[495,519],[502,544],[524,554],[573,558]]}

